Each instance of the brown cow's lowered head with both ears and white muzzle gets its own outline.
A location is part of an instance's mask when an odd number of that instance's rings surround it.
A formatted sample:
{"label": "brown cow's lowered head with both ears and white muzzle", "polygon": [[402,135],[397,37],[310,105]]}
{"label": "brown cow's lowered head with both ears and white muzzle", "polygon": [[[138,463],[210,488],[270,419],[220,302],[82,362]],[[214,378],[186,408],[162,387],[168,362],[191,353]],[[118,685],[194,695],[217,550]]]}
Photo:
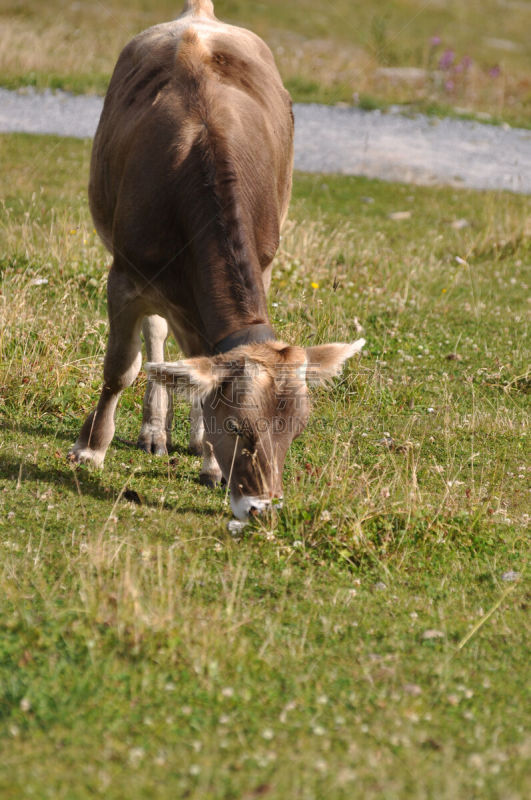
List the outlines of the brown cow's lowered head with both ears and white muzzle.
{"label": "brown cow's lowered head with both ears and white muzzle", "polygon": [[245,520],[282,498],[286,452],[308,422],[308,385],[339,375],[365,344],[248,344],[224,355],[147,364],[151,380],[199,399],[205,439]]}

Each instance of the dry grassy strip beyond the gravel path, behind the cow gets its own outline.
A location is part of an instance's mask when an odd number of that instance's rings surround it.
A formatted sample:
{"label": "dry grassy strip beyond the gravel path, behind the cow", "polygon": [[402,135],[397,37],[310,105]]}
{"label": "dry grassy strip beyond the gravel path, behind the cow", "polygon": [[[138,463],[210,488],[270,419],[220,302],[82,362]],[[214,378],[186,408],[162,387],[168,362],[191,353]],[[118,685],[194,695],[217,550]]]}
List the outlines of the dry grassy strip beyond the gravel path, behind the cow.
{"label": "dry grassy strip beyond the gravel path, behind the cow", "polygon": [[[0,84],[106,89],[126,42],[181,0],[7,0]],[[531,2],[217,0],[220,19],[272,47],[295,100],[408,105],[529,126]],[[414,68],[404,72],[401,68]],[[397,71],[398,68],[398,71]]]}

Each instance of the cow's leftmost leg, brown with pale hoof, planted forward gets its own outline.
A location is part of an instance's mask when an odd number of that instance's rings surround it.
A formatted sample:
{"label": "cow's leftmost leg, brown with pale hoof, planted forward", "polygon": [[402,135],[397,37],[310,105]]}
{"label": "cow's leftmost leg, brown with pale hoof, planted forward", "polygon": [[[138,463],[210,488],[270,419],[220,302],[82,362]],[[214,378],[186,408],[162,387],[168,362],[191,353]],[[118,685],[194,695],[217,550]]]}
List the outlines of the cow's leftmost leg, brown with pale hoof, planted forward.
{"label": "cow's leftmost leg, brown with pale hoof, planted forward", "polygon": [[103,388],[75,445],[71,461],[101,467],[114,436],[114,412],[121,392],[130,386],[142,363],[140,328],[144,316],[141,298],[124,275],[113,266],[107,282],[109,340],[103,368]]}

